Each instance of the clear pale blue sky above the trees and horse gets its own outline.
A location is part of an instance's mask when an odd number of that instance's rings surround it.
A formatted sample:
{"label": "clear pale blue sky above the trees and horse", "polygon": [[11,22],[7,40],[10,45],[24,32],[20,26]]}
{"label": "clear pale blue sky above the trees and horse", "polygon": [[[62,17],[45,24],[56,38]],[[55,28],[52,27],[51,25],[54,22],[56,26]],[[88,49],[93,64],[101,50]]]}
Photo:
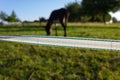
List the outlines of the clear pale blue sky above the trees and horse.
{"label": "clear pale blue sky above the trees and horse", "polygon": [[[0,11],[10,15],[14,10],[20,20],[34,21],[40,17],[47,19],[52,10],[65,7],[68,3],[75,1],[76,0],[0,0]],[[120,12],[115,14],[111,13],[111,15],[120,20]]]}

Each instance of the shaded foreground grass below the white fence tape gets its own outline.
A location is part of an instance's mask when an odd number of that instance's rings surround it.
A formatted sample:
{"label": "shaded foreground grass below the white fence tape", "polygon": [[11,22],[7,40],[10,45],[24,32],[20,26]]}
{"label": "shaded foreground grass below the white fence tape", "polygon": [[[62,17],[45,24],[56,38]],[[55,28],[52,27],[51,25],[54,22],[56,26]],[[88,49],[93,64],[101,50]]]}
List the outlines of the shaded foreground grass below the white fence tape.
{"label": "shaded foreground grass below the white fence tape", "polygon": [[0,44],[0,80],[120,80],[120,52]]}

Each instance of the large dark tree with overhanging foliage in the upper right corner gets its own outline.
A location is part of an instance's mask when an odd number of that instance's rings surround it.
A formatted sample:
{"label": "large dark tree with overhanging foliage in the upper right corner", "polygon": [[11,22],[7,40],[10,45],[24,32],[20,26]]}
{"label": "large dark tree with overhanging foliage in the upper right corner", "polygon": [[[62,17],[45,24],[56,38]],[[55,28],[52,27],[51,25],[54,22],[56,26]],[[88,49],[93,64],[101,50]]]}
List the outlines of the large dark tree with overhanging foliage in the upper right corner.
{"label": "large dark tree with overhanging foliage in the upper right corner", "polygon": [[108,12],[120,9],[120,0],[83,0],[82,7],[86,10],[86,14],[92,17],[92,21],[96,15],[101,14],[105,23]]}

